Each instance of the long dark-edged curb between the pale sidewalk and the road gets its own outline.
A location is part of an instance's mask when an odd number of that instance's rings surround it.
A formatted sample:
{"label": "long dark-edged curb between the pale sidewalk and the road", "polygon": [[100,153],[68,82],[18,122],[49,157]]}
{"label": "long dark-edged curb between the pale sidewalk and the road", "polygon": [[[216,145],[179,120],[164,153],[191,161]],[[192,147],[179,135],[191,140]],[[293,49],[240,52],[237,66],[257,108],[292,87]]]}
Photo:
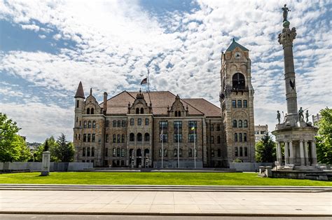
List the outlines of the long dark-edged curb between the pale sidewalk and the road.
{"label": "long dark-edged curb between the pale sidewalk and the road", "polygon": [[293,216],[329,217],[332,214],[252,214],[252,213],[162,213],[162,212],[13,212],[0,211],[0,214],[62,214],[62,215],[146,215],[146,216]]}

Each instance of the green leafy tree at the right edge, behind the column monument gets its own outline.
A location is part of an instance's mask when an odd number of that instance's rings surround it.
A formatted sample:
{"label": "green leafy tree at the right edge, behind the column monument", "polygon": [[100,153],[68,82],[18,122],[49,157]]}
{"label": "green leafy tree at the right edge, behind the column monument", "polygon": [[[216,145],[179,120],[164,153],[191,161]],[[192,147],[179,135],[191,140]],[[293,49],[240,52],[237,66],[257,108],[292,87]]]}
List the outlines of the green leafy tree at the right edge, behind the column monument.
{"label": "green leafy tree at the right edge, behind the column monument", "polygon": [[321,109],[316,137],[318,163],[332,164],[332,109]]}

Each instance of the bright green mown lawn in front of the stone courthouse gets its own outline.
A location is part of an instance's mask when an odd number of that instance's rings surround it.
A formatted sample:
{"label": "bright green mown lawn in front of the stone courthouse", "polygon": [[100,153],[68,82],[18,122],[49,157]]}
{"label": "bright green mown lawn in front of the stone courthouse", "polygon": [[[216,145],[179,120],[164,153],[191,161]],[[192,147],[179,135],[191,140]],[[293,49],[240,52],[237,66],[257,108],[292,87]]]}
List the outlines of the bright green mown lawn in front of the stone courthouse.
{"label": "bright green mown lawn in front of the stone courthouse", "polygon": [[216,186],[332,186],[332,181],[272,179],[240,172],[40,172],[0,174],[0,184],[100,184],[100,185],[216,185]]}

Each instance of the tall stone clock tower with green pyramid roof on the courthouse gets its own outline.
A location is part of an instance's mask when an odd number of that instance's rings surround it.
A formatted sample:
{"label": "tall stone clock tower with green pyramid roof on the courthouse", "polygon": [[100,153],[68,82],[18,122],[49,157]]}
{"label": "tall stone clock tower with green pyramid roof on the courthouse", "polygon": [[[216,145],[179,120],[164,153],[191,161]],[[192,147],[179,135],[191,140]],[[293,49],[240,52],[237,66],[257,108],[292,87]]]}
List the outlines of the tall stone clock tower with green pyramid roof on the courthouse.
{"label": "tall stone clock tower with green pyramid roof on the courthouse", "polygon": [[233,160],[255,162],[254,88],[249,50],[233,39],[221,53],[221,117],[228,165]]}

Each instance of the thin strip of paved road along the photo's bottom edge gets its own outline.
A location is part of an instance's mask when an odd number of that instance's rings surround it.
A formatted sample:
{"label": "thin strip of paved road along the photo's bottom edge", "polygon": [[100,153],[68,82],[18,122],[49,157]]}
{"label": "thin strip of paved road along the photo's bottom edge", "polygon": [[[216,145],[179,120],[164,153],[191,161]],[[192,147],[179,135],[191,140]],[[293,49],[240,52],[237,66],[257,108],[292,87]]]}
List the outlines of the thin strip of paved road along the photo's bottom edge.
{"label": "thin strip of paved road along the photo's bottom edge", "polygon": [[52,214],[0,214],[0,219],[16,220],[16,219],[163,219],[163,220],[329,220],[331,217],[258,217],[258,216],[130,216],[130,215],[52,215]]}

